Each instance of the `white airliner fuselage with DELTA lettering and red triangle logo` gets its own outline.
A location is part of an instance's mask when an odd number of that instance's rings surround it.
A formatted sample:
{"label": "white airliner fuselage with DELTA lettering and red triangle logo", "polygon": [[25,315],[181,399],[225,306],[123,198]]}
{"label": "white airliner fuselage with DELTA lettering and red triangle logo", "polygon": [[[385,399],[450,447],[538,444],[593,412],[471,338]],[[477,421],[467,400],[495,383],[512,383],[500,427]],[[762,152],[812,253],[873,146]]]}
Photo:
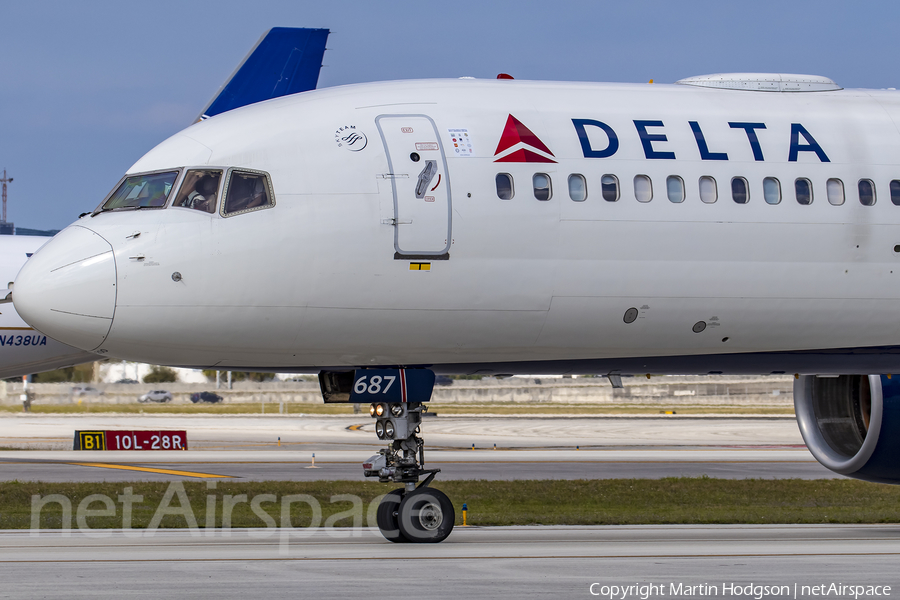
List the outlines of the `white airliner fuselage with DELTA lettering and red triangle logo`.
{"label": "white airliner fuselage with DELTA lettering and red triangle logo", "polygon": [[[510,116],[518,138],[504,134]],[[129,171],[261,171],[273,207],[225,217],[173,207],[173,192],[168,208],[83,217],[23,270],[16,307],[86,350],[217,368],[627,372],[639,365],[615,361],[889,349],[900,346],[898,118],[900,94],[869,90],[439,80],[307,92],[198,123]],[[435,176],[416,190],[429,160]],[[546,201],[536,174],[550,178]],[[573,174],[584,201],[570,197]],[[605,175],[617,201],[603,197]],[[683,202],[669,200],[670,176]],[[701,201],[704,177],[715,202]],[[843,204],[829,202],[829,179]],[[81,259],[106,271],[55,279]]]}

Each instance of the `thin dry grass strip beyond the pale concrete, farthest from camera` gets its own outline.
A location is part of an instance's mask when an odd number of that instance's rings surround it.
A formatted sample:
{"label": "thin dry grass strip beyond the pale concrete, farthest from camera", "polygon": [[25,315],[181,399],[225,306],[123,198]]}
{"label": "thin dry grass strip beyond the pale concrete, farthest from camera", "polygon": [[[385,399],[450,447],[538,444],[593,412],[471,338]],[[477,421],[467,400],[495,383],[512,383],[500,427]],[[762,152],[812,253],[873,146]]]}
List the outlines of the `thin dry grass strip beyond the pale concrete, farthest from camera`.
{"label": "thin dry grass strip beyond the pale concrete, farthest from camera", "polygon": [[[285,403],[288,415],[353,415],[352,404],[299,404]],[[652,406],[641,405],[602,405],[602,404],[439,404],[430,405],[431,412],[440,416],[461,414],[491,415],[661,415],[666,411],[674,411],[679,415],[793,415],[793,407],[785,406]],[[369,417],[369,407],[362,407],[360,417]],[[278,403],[267,402],[265,414],[279,414]],[[22,407],[15,405],[0,406],[2,413],[21,413]],[[258,415],[263,413],[259,402],[243,402],[229,404],[34,404],[31,412],[35,414],[186,414],[186,415]]]}

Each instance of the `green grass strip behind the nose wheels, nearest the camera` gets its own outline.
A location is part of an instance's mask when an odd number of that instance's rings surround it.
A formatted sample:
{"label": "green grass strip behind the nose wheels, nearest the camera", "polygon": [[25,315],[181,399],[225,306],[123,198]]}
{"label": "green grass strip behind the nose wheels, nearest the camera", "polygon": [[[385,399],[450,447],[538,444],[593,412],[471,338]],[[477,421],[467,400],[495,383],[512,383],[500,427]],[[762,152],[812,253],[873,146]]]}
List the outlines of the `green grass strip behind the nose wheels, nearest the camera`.
{"label": "green grass strip behind the nose wheels, nearest the camera", "polygon": [[[265,527],[281,523],[286,496],[307,494],[321,508],[320,524],[366,524],[370,504],[398,486],[376,482],[130,482],[0,484],[0,529],[24,529],[32,523],[32,496],[65,497],[73,515],[78,506],[94,511],[106,507],[106,516],[88,516],[92,528],[123,527],[125,488],[142,496],[132,506],[131,526],[146,528],[162,506],[181,506],[183,485],[190,512],[199,526]],[[211,486],[215,486],[214,488]],[[173,486],[173,487],[170,487]],[[438,489],[454,503],[456,522],[462,521],[462,504],[468,504],[470,525],[610,525],[610,524],[709,524],[709,523],[897,523],[900,522],[900,489],[852,479],[608,479],[575,481],[442,481]],[[173,488],[175,492],[173,492]],[[171,501],[162,505],[167,491]],[[270,496],[261,497],[261,494]],[[93,496],[89,504],[85,501]],[[338,497],[344,495],[342,497]],[[110,499],[105,503],[101,496]],[[251,506],[257,499],[256,511]],[[233,504],[231,509],[223,506]],[[296,499],[295,499],[296,500]],[[209,509],[210,520],[207,521]],[[311,523],[309,502],[288,506],[294,527]],[[340,514],[343,513],[343,514]],[[83,514],[83,512],[82,512]],[[96,514],[96,513],[95,513]],[[214,517],[212,516],[214,514]],[[60,504],[47,503],[39,512],[41,529],[63,526]],[[358,515],[354,520],[354,515]],[[267,521],[267,519],[269,519]],[[75,525],[73,517],[72,523]],[[374,523],[373,523],[374,525]],[[183,528],[183,514],[168,514],[159,527]]]}

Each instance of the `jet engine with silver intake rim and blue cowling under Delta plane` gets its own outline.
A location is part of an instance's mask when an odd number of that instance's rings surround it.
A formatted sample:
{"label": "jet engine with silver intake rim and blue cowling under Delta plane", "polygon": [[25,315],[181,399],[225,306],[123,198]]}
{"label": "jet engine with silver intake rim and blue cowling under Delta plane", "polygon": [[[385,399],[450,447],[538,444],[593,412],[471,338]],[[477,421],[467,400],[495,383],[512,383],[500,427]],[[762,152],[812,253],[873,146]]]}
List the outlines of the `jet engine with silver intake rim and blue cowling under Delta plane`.
{"label": "jet engine with silver intake rim and blue cowling under Delta plane", "polygon": [[900,376],[803,375],[794,381],[803,441],[841,475],[900,483]]}

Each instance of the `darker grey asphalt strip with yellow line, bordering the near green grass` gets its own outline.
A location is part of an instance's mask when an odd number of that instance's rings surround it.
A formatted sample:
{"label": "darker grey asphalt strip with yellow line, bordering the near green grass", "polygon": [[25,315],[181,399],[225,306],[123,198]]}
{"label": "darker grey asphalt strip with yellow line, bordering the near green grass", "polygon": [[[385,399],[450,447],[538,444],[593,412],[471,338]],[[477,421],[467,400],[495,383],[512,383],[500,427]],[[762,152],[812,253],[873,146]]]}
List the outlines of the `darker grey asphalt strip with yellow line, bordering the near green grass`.
{"label": "darker grey asphalt strip with yellow line, bordering the near green grass", "polygon": [[[362,480],[359,451],[311,453],[0,452],[0,481],[168,481],[233,478],[249,481]],[[826,479],[839,477],[805,449],[520,450],[426,454],[448,479],[613,479],[698,477]]]}

